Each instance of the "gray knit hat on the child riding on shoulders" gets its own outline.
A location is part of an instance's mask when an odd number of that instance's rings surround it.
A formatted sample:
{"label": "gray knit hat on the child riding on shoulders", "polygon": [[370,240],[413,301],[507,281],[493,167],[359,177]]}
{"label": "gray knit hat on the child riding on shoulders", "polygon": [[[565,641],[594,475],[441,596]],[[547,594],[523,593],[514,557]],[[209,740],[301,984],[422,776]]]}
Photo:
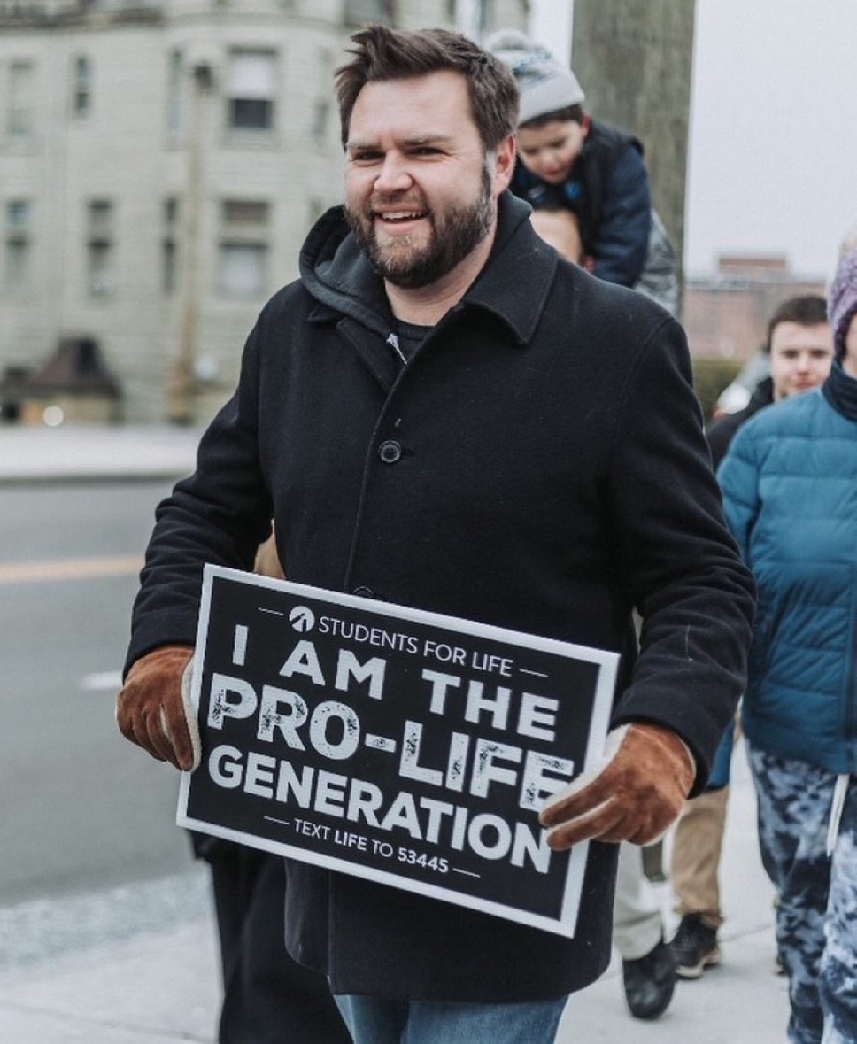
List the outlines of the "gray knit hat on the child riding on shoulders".
{"label": "gray knit hat on the child riding on shoulders", "polygon": [[518,29],[500,29],[485,41],[485,49],[504,62],[521,92],[519,123],[578,105],[586,95],[577,77],[541,44]]}

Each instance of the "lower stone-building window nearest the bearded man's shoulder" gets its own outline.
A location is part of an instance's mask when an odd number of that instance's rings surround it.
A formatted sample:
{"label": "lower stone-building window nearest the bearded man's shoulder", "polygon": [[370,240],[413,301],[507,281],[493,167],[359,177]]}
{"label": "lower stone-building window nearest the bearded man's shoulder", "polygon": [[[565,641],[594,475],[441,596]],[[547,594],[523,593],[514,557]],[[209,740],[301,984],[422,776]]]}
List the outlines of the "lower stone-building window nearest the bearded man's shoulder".
{"label": "lower stone-building window nearest the bearded man's shoulder", "polygon": [[224,298],[258,300],[267,287],[268,205],[224,200],[220,226],[218,292]]}

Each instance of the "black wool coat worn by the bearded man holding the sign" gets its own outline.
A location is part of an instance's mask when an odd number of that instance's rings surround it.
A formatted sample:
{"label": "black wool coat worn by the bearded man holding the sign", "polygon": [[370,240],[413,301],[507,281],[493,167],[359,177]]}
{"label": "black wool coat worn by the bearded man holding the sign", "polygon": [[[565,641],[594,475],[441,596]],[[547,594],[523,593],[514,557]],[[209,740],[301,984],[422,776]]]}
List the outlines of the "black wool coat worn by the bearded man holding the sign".
{"label": "black wool coat worn by the bearded man holding the sign", "polygon": [[[249,568],[273,517],[291,579],[624,650],[615,722],[673,729],[698,789],[743,688],[753,595],[684,332],[561,261],[525,204],[499,210],[484,270],[407,365],[341,211],[320,219],[159,507],[128,662],[192,643],[203,563]],[[573,940],[289,862],[288,947],[337,993],[560,996],[610,958],[616,846],[590,856]]]}

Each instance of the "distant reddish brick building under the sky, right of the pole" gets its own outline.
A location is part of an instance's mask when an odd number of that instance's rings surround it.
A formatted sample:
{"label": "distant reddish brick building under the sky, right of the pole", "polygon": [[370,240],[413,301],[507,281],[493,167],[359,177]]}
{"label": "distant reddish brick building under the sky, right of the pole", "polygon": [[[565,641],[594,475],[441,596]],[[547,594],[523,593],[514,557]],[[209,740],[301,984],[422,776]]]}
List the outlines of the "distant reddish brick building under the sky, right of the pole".
{"label": "distant reddish brick building under the sky, right of the pole", "polygon": [[721,256],[713,276],[685,283],[684,326],[696,358],[745,360],[760,347],[775,308],[804,293],[825,295],[824,279],[795,276],[786,258]]}

